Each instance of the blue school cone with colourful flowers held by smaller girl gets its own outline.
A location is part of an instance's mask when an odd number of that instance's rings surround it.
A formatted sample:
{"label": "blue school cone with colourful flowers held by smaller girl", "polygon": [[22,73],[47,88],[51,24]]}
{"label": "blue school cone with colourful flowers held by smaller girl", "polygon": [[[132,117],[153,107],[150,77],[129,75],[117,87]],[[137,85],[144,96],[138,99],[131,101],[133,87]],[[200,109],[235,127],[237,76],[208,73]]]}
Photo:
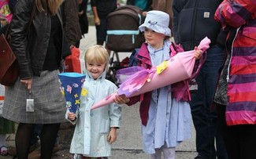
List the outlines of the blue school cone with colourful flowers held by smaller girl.
{"label": "blue school cone with colourful flowers held by smaller girl", "polygon": [[58,78],[61,80],[61,92],[65,94],[66,107],[69,108],[70,112],[75,114],[77,108],[80,106],[80,95],[85,75],[75,72],[65,72],[58,74]]}

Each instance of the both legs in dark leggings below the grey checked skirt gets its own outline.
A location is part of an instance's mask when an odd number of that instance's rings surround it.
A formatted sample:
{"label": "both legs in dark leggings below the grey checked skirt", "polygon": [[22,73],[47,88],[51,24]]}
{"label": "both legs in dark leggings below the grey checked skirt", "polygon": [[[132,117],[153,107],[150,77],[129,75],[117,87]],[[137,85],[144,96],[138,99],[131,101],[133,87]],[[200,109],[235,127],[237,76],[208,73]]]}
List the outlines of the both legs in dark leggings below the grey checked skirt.
{"label": "both legs in dark leggings below the grey checked skirt", "polygon": [[[28,159],[28,151],[32,134],[34,133],[35,124],[20,123],[15,137],[17,149],[17,158]],[[40,135],[41,141],[41,158],[50,159],[52,156],[55,139],[58,135],[60,124],[45,124],[43,125]]]}

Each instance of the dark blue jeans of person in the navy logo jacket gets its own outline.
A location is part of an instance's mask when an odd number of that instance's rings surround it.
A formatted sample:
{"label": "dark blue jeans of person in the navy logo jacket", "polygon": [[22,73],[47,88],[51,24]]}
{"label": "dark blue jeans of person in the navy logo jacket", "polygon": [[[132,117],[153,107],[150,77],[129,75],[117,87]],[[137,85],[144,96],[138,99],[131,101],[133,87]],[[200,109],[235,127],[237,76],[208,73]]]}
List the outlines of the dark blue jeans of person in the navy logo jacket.
{"label": "dark blue jeans of person in the navy logo jacket", "polygon": [[[203,159],[227,159],[217,112],[212,107],[219,70],[224,63],[224,49],[217,45],[207,50],[206,61],[195,78],[198,91],[191,94],[191,113],[196,131],[196,150]],[[214,146],[216,141],[216,149]]]}

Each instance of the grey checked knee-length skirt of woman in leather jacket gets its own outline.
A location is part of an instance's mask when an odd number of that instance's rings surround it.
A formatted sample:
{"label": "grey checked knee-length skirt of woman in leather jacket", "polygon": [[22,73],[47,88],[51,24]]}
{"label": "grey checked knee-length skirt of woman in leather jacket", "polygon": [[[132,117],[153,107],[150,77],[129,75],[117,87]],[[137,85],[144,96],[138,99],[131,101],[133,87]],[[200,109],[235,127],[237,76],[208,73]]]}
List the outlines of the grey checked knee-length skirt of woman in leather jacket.
{"label": "grey checked knee-length skirt of woman in leather jacket", "polygon": [[10,121],[31,124],[54,124],[65,122],[65,97],[61,95],[58,70],[45,70],[40,77],[32,77],[32,96],[34,112],[26,111],[28,89],[20,83],[6,89],[2,117]]}

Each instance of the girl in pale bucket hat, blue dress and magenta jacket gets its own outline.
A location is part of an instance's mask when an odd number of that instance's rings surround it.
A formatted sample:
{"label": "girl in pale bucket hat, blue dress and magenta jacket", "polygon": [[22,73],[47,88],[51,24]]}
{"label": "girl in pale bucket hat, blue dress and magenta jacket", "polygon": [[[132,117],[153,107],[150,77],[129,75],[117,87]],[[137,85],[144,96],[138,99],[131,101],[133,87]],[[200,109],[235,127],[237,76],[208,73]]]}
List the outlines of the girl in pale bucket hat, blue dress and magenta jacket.
{"label": "girl in pale bucket hat, blue dress and magenta jacket", "polygon": [[[138,65],[150,69],[164,60],[169,60],[169,15],[152,10],[147,13],[145,22],[139,26],[139,30],[144,31],[146,42],[136,56]],[[195,52],[196,59],[199,58],[200,52]],[[150,154],[150,159],[161,159],[162,153],[165,159],[174,159],[175,147],[184,139],[191,137],[189,90],[185,89],[183,96],[177,98],[175,91],[172,90],[174,85],[144,93],[140,103],[143,151]],[[140,99],[140,96],[132,97],[127,104],[132,105]]]}

